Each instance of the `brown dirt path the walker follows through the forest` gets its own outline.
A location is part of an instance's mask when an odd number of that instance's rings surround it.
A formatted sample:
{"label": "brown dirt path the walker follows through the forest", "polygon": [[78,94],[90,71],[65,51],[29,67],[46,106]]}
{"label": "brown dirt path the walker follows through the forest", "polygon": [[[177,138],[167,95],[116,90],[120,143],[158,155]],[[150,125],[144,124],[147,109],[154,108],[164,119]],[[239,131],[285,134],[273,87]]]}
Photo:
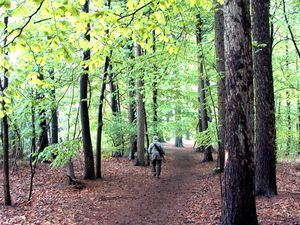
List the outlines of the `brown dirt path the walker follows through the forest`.
{"label": "brown dirt path the walker follows through the forest", "polygon": [[[164,145],[167,162],[163,163],[161,177],[153,177],[150,167],[135,168],[138,172],[134,180],[127,189],[123,189],[127,197],[123,196],[112,204],[109,211],[114,212],[113,218],[109,215],[106,220],[99,218],[100,224],[201,224],[199,215],[203,212],[194,212],[198,218],[191,212],[195,200],[201,198],[203,191],[198,182],[205,177],[199,173],[200,154],[196,154],[191,146],[173,148],[171,144]],[[209,171],[202,171],[202,175],[211,172],[210,167]],[[123,180],[121,183],[128,182],[121,177],[118,179]],[[124,183],[122,187],[125,188]],[[130,190],[134,195],[130,195],[128,204]],[[211,222],[209,220],[209,224],[213,224]]]}

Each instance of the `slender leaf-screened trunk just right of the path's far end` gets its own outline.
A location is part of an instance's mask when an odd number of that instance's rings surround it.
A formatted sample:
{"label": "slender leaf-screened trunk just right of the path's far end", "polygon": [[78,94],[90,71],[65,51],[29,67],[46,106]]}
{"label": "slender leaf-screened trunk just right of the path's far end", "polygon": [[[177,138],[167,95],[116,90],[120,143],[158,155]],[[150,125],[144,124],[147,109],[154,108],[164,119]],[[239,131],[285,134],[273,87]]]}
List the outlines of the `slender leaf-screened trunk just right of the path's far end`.
{"label": "slender leaf-screened trunk just right of the path's far end", "polygon": [[[200,15],[196,15],[196,18],[198,20],[198,23],[196,25],[196,42],[197,45],[200,47],[201,42],[202,42],[202,21]],[[199,92],[199,100],[200,100],[200,112],[201,112],[201,127],[202,131],[206,131],[208,128],[208,115],[207,115],[207,109],[206,109],[206,96],[205,96],[205,78],[204,78],[204,73],[203,73],[203,55],[202,53],[199,53],[198,56],[199,60],[199,85],[198,85],[198,92]],[[211,151],[211,146],[204,146],[204,159],[203,162],[208,162],[208,161],[213,161],[212,157],[212,151]]]}

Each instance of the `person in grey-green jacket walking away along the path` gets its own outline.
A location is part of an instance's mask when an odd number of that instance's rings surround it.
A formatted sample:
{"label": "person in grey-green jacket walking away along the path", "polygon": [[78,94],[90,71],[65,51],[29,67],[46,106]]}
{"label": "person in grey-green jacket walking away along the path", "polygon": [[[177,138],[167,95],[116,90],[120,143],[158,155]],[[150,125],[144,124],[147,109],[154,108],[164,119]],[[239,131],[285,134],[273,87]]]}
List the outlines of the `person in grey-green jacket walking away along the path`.
{"label": "person in grey-green jacket walking away along the path", "polygon": [[165,149],[158,137],[153,137],[153,142],[149,145],[148,153],[151,154],[153,176],[159,178],[161,174],[161,162],[164,159]]}

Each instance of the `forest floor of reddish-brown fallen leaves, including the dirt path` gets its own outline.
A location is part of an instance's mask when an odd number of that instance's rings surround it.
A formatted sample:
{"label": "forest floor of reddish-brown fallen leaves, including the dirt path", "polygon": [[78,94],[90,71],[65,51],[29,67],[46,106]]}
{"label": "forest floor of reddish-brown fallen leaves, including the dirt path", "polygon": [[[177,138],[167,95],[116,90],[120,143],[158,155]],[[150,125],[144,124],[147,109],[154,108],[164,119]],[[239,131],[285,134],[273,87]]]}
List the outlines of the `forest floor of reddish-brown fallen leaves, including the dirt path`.
{"label": "forest floor of reddish-brown fallen leaves, including the dirt path", "polygon": [[[10,175],[13,204],[0,205],[0,224],[218,224],[220,175],[212,175],[216,162],[201,163],[203,154],[192,145],[164,146],[167,162],[160,178],[152,176],[150,166],[111,158],[102,162],[103,178],[83,180],[82,189],[67,185],[64,169],[40,163],[30,201],[30,168],[27,162],[18,163]],[[82,165],[75,162],[78,178]],[[300,160],[278,163],[277,185],[277,196],[256,198],[259,224],[300,224]]]}

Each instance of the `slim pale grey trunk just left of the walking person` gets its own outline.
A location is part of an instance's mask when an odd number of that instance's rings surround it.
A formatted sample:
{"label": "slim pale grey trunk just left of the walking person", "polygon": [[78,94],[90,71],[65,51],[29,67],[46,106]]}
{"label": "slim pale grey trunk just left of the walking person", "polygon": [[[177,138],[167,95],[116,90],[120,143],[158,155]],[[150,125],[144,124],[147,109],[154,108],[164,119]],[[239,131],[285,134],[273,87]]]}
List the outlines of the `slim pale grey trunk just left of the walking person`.
{"label": "slim pale grey trunk just left of the walking person", "polygon": [[[136,43],[136,57],[142,55],[141,46]],[[145,138],[145,113],[144,113],[144,96],[142,94],[142,90],[144,88],[143,85],[143,77],[139,76],[137,80],[137,161],[136,165],[144,166],[145,165],[145,146],[144,146],[144,138]]]}

